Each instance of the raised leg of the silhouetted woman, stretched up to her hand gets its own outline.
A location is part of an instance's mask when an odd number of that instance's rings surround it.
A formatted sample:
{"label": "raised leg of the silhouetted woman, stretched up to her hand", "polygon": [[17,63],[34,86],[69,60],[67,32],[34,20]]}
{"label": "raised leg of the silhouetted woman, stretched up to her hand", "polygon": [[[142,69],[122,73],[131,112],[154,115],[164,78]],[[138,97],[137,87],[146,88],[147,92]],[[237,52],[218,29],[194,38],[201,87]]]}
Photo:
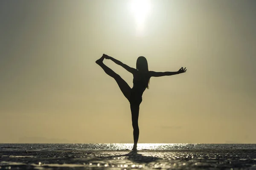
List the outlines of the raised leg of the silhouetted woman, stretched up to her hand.
{"label": "raised leg of the silhouetted woman, stretched up to her hand", "polygon": [[103,63],[103,59],[104,59],[104,55],[98,59],[96,61],[96,63],[101,66],[101,68],[105,71],[106,74],[108,74],[109,76],[113,77],[120,90],[122,91],[122,94],[124,94],[124,96],[126,97],[126,99],[128,99],[128,101],[130,100],[130,96],[131,96],[131,88],[130,86],[127,84],[127,82],[125,82],[124,79],[122,79],[122,77],[120,77],[118,74],[116,74],[113,70],[111,70],[111,68],[109,68],[108,66],[106,66]]}

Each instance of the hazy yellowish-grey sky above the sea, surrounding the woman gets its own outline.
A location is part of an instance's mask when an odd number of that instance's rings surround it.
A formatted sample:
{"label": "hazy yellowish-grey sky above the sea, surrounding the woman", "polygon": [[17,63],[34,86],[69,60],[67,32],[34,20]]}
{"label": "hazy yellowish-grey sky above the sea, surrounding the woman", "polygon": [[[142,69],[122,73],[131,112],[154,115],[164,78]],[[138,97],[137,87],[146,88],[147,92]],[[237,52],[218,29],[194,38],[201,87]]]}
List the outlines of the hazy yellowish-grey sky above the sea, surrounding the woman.
{"label": "hazy yellowish-grey sky above the sea, surrounding the woman", "polygon": [[105,53],[187,68],[151,78],[139,143],[256,143],[255,17],[255,0],[1,0],[0,142],[132,143]]}

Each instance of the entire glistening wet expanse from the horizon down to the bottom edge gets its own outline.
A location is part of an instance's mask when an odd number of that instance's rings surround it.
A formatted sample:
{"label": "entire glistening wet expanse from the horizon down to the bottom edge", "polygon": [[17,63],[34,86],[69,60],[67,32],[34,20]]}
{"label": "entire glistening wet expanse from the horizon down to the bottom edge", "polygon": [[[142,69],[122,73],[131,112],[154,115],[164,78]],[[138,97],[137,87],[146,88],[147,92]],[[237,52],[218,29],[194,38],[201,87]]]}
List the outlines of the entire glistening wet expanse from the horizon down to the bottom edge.
{"label": "entire glistening wet expanse from the horizon down to the bottom edge", "polygon": [[[256,144],[0,144],[1,169],[256,170]],[[25,153],[26,149],[27,153]]]}

